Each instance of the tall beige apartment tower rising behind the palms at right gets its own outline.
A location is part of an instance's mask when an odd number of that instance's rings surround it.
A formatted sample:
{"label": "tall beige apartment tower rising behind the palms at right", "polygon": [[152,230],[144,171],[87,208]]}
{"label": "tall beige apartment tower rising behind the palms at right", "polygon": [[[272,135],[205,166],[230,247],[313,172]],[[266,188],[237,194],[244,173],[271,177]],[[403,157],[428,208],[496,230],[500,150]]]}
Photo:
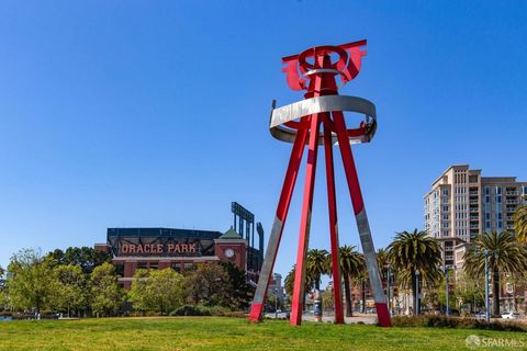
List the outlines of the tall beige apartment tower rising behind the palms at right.
{"label": "tall beige apartment tower rising behind the palms at right", "polygon": [[482,177],[469,165],[451,166],[425,195],[425,229],[444,241],[445,264],[455,248],[486,231],[514,231],[513,215],[526,203],[527,182],[516,177]]}

